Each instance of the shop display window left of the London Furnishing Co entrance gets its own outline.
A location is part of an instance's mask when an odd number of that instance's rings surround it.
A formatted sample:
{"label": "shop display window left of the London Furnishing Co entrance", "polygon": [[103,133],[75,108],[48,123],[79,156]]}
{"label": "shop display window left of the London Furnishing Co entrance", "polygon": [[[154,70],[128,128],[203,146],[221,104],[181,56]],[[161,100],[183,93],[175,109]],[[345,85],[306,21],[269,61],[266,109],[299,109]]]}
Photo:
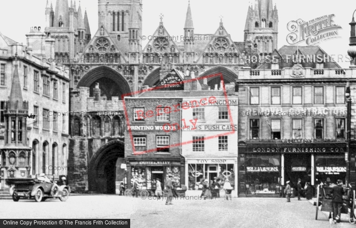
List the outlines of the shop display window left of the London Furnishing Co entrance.
{"label": "shop display window left of the London Furnishing Co entrance", "polygon": [[280,155],[247,154],[246,194],[279,194]]}

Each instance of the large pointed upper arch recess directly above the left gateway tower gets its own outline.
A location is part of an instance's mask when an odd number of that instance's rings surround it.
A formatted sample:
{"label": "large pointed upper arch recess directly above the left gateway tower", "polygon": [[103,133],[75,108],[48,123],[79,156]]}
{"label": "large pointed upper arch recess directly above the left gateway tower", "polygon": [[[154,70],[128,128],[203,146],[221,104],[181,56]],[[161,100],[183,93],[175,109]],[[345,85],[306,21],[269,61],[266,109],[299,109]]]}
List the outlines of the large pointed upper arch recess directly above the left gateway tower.
{"label": "large pointed upper arch recess directly above the left gateway tower", "polygon": [[123,94],[131,93],[130,85],[126,79],[117,71],[106,66],[97,67],[86,73],[78,82],[77,88],[88,87],[90,88],[90,96],[94,96],[96,83],[99,83],[100,95],[106,96],[108,101],[113,96],[121,100]]}

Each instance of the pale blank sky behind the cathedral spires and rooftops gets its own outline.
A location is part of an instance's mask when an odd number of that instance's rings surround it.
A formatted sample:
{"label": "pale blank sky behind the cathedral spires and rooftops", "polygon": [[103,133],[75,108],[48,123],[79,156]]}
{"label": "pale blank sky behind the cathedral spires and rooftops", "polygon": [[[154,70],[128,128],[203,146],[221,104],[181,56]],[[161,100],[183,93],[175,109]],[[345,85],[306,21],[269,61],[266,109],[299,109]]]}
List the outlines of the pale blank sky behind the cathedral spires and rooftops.
{"label": "pale blank sky behind the cathedral spires and rooftops", "polygon": [[[48,0],[49,2],[51,0]],[[74,0],[73,0],[74,1]],[[70,0],[69,0],[70,2]],[[191,0],[191,10],[195,27],[195,34],[213,34],[223,17],[224,27],[233,41],[243,41],[244,27],[249,4],[253,0]],[[279,15],[278,48],[289,45],[286,41],[290,33],[287,29],[289,21],[303,19],[312,20],[324,15],[335,14],[334,23],[342,28],[338,29],[341,38],[323,41],[318,45],[328,54],[347,55],[348,39],[350,36],[349,22],[356,9],[356,2],[350,0],[322,1],[322,0],[273,0],[277,5]],[[81,8],[87,10],[92,35],[98,28],[98,1],[82,0]],[[79,1],[76,1],[78,7]],[[45,27],[46,0],[13,0],[1,1],[0,4],[0,32],[19,42],[26,43],[25,34],[32,26]],[[159,25],[160,14],[164,15],[163,23],[170,36],[183,35],[188,0],[143,0],[143,31],[142,35],[153,35]],[[53,0],[55,8],[55,0]],[[43,30],[43,29],[42,29]],[[147,41],[142,42],[143,46]],[[305,44],[304,44],[305,45]],[[344,57],[339,60],[343,68],[349,67]]]}

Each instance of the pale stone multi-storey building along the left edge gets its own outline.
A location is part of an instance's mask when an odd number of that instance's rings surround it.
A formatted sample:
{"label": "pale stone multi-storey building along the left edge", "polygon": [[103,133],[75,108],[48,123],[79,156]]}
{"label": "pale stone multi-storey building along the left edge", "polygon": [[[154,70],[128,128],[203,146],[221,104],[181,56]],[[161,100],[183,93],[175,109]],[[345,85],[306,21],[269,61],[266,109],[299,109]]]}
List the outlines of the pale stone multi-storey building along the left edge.
{"label": "pale stone multi-storey building along the left edge", "polygon": [[6,178],[45,173],[67,175],[69,72],[54,63],[54,40],[40,27],[26,35],[27,46],[0,33],[1,186]]}

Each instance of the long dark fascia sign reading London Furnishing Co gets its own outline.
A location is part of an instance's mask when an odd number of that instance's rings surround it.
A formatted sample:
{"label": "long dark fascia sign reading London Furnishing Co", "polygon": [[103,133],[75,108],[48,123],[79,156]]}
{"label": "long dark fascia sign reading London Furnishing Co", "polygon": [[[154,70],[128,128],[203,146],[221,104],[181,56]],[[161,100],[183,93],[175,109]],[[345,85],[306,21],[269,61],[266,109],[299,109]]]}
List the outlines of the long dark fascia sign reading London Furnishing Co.
{"label": "long dark fascia sign reading London Furnishing Co", "polygon": [[340,147],[275,147],[275,148],[264,148],[264,147],[254,147],[249,148],[249,150],[255,153],[339,153],[344,152],[343,148]]}

